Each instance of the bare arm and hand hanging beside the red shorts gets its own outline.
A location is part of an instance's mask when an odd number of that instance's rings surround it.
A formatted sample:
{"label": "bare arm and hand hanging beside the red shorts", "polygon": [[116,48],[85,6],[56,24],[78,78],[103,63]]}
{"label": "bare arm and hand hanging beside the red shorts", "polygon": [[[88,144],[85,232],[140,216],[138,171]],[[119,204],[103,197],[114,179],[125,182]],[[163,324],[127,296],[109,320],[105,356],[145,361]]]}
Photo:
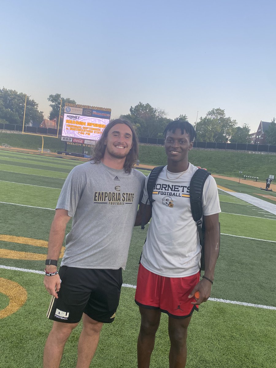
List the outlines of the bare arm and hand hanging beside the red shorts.
{"label": "bare arm and hand hanging beside the red shorts", "polygon": [[[205,273],[204,276],[209,280],[213,281],[215,274],[215,266],[217,257],[219,256],[219,241],[220,241],[220,231],[219,231],[219,214],[204,216],[205,222],[205,240],[204,240],[204,255],[205,255]],[[199,291],[199,299],[197,302],[192,302],[192,304],[201,304],[206,301],[211,294],[212,283],[203,278],[195,286],[194,290],[191,292],[191,296],[194,295],[196,291]]]}

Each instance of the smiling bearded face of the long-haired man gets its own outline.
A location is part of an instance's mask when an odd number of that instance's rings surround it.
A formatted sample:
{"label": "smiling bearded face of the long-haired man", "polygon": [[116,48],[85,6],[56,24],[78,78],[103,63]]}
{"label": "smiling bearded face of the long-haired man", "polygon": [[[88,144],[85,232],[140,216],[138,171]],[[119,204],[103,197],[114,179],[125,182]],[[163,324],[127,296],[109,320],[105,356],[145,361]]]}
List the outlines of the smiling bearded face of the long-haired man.
{"label": "smiling bearded face of the long-haired man", "polygon": [[126,124],[114,125],[105,139],[105,156],[123,159],[132,148],[132,131]]}

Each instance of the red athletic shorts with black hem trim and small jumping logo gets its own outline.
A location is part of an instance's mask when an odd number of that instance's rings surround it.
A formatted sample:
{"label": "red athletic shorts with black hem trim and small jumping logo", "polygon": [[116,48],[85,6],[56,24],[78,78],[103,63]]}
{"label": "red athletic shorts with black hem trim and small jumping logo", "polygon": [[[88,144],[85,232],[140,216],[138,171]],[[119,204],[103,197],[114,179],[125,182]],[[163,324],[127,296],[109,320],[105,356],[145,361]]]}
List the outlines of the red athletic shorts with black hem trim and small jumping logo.
{"label": "red athletic shorts with black hem trim and small jumping logo", "polygon": [[160,309],[174,318],[186,318],[198,311],[198,305],[188,298],[199,282],[200,273],[188,277],[164,277],[145,269],[140,263],[135,303],[149,309]]}

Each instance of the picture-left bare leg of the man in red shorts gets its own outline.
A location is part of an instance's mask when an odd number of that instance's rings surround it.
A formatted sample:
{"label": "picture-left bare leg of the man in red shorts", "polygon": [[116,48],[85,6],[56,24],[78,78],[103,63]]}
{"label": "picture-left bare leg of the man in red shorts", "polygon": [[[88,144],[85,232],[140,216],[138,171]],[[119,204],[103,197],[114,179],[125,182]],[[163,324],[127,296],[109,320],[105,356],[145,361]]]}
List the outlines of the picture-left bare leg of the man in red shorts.
{"label": "picture-left bare leg of the man in red shorts", "polygon": [[149,368],[155,343],[155,334],[160,323],[160,309],[139,307],[141,326],[137,342],[138,368]]}

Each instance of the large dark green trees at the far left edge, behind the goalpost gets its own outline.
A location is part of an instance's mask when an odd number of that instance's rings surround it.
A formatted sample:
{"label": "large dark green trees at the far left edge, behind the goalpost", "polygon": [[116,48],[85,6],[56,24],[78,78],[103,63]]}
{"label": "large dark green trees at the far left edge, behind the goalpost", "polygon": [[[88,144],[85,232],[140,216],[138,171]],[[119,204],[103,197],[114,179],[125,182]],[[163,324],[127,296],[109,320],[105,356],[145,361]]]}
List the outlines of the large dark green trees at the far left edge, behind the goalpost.
{"label": "large dark green trees at the far left edge, behind the goalpost", "polygon": [[[0,119],[10,124],[23,124],[25,109],[25,93],[18,93],[12,89],[0,89]],[[43,111],[38,110],[38,103],[27,96],[25,124],[39,125],[44,118]]]}

